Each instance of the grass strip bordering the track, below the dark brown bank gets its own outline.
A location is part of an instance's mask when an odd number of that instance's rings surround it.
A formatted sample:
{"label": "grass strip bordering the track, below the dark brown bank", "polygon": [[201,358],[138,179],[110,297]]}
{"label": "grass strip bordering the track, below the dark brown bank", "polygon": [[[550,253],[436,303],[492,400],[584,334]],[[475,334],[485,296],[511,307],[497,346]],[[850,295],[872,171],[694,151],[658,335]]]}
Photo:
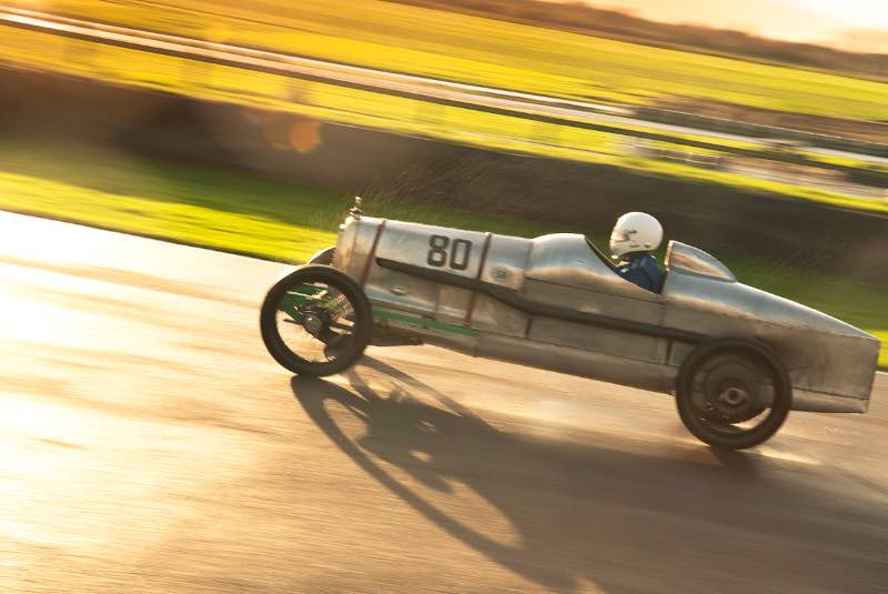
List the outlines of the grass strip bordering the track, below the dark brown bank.
{"label": "grass strip bordering the track, below the dark brown bank", "polygon": [[[0,139],[0,209],[299,262],[335,242],[352,197],[120,154]],[[583,229],[369,197],[373,214],[534,236]],[[604,241],[595,238],[601,245]],[[719,254],[740,281],[876,333],[888,368],[885,286]]]}

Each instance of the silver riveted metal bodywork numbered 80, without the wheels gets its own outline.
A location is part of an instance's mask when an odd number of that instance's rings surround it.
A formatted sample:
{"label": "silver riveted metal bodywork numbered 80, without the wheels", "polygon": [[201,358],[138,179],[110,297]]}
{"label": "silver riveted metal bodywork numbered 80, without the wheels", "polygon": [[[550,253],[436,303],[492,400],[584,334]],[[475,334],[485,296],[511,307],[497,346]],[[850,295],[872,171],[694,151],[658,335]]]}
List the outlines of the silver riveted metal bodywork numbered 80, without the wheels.
{"label": "silver riveted metal bodywork numbered 80, without the wheels", "polygon": [[794,410],[866,412],[874,336],[741,284],[690,245],[670,242],[665,264],[653,293],[583,235],[531,240],[360,213],[341,225],[333,258],[363,285],[383,331],[664,393],[700,343],[753,339],[787,370]]}

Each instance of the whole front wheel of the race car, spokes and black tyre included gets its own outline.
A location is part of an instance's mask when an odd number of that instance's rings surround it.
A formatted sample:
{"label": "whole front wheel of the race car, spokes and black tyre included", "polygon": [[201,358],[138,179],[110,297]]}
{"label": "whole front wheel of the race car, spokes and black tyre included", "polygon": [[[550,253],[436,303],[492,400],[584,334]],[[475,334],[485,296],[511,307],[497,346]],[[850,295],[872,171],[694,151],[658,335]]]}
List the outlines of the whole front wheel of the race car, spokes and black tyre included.
{"label": "whole front wheel of the race car, spokes and black tyre included", "polygon": [[373,330],[370,300],[339,270],[310,264],[271,288],[260,313],[262,340],[278,363],[323,376],[352,366]]}

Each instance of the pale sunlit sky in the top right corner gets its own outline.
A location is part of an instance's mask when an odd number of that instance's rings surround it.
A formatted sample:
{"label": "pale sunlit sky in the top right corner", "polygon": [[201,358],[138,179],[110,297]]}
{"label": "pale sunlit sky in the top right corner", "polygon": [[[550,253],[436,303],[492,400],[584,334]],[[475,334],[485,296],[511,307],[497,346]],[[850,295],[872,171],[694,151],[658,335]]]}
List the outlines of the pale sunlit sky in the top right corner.
{"label": "pale sunlit sky in the top right corner", "polygon": [[582,0],[665,22],[888,52],[888,0]]}

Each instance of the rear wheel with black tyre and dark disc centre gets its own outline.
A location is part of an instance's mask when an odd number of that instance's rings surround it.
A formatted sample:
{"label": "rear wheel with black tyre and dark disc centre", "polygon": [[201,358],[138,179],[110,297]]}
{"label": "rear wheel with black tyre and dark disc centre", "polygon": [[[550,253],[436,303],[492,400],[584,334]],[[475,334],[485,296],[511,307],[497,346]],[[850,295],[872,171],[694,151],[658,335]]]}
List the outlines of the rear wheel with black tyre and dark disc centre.
{"label": "rear wheel with black tyre and dark disc centre", "polygon": [[[764,409],[755,405],[763,384],[773,392],[770,406]],[[722,392],[716,396],[716,391]],[[745,400],[734,394],[744,394]],[[730,400],[713,402],[724,397],[737,397],[740,404],[731,410]],[[713,447],[743,450],[764,443],[780,429],[793,403],[793,386],[786,370],[764,344],[719,340],[700,345],[687,358],[678,374],[675,402],[682,422],[695,437]],[[766,416],[753,426],[740,426],[763,414]]]}

